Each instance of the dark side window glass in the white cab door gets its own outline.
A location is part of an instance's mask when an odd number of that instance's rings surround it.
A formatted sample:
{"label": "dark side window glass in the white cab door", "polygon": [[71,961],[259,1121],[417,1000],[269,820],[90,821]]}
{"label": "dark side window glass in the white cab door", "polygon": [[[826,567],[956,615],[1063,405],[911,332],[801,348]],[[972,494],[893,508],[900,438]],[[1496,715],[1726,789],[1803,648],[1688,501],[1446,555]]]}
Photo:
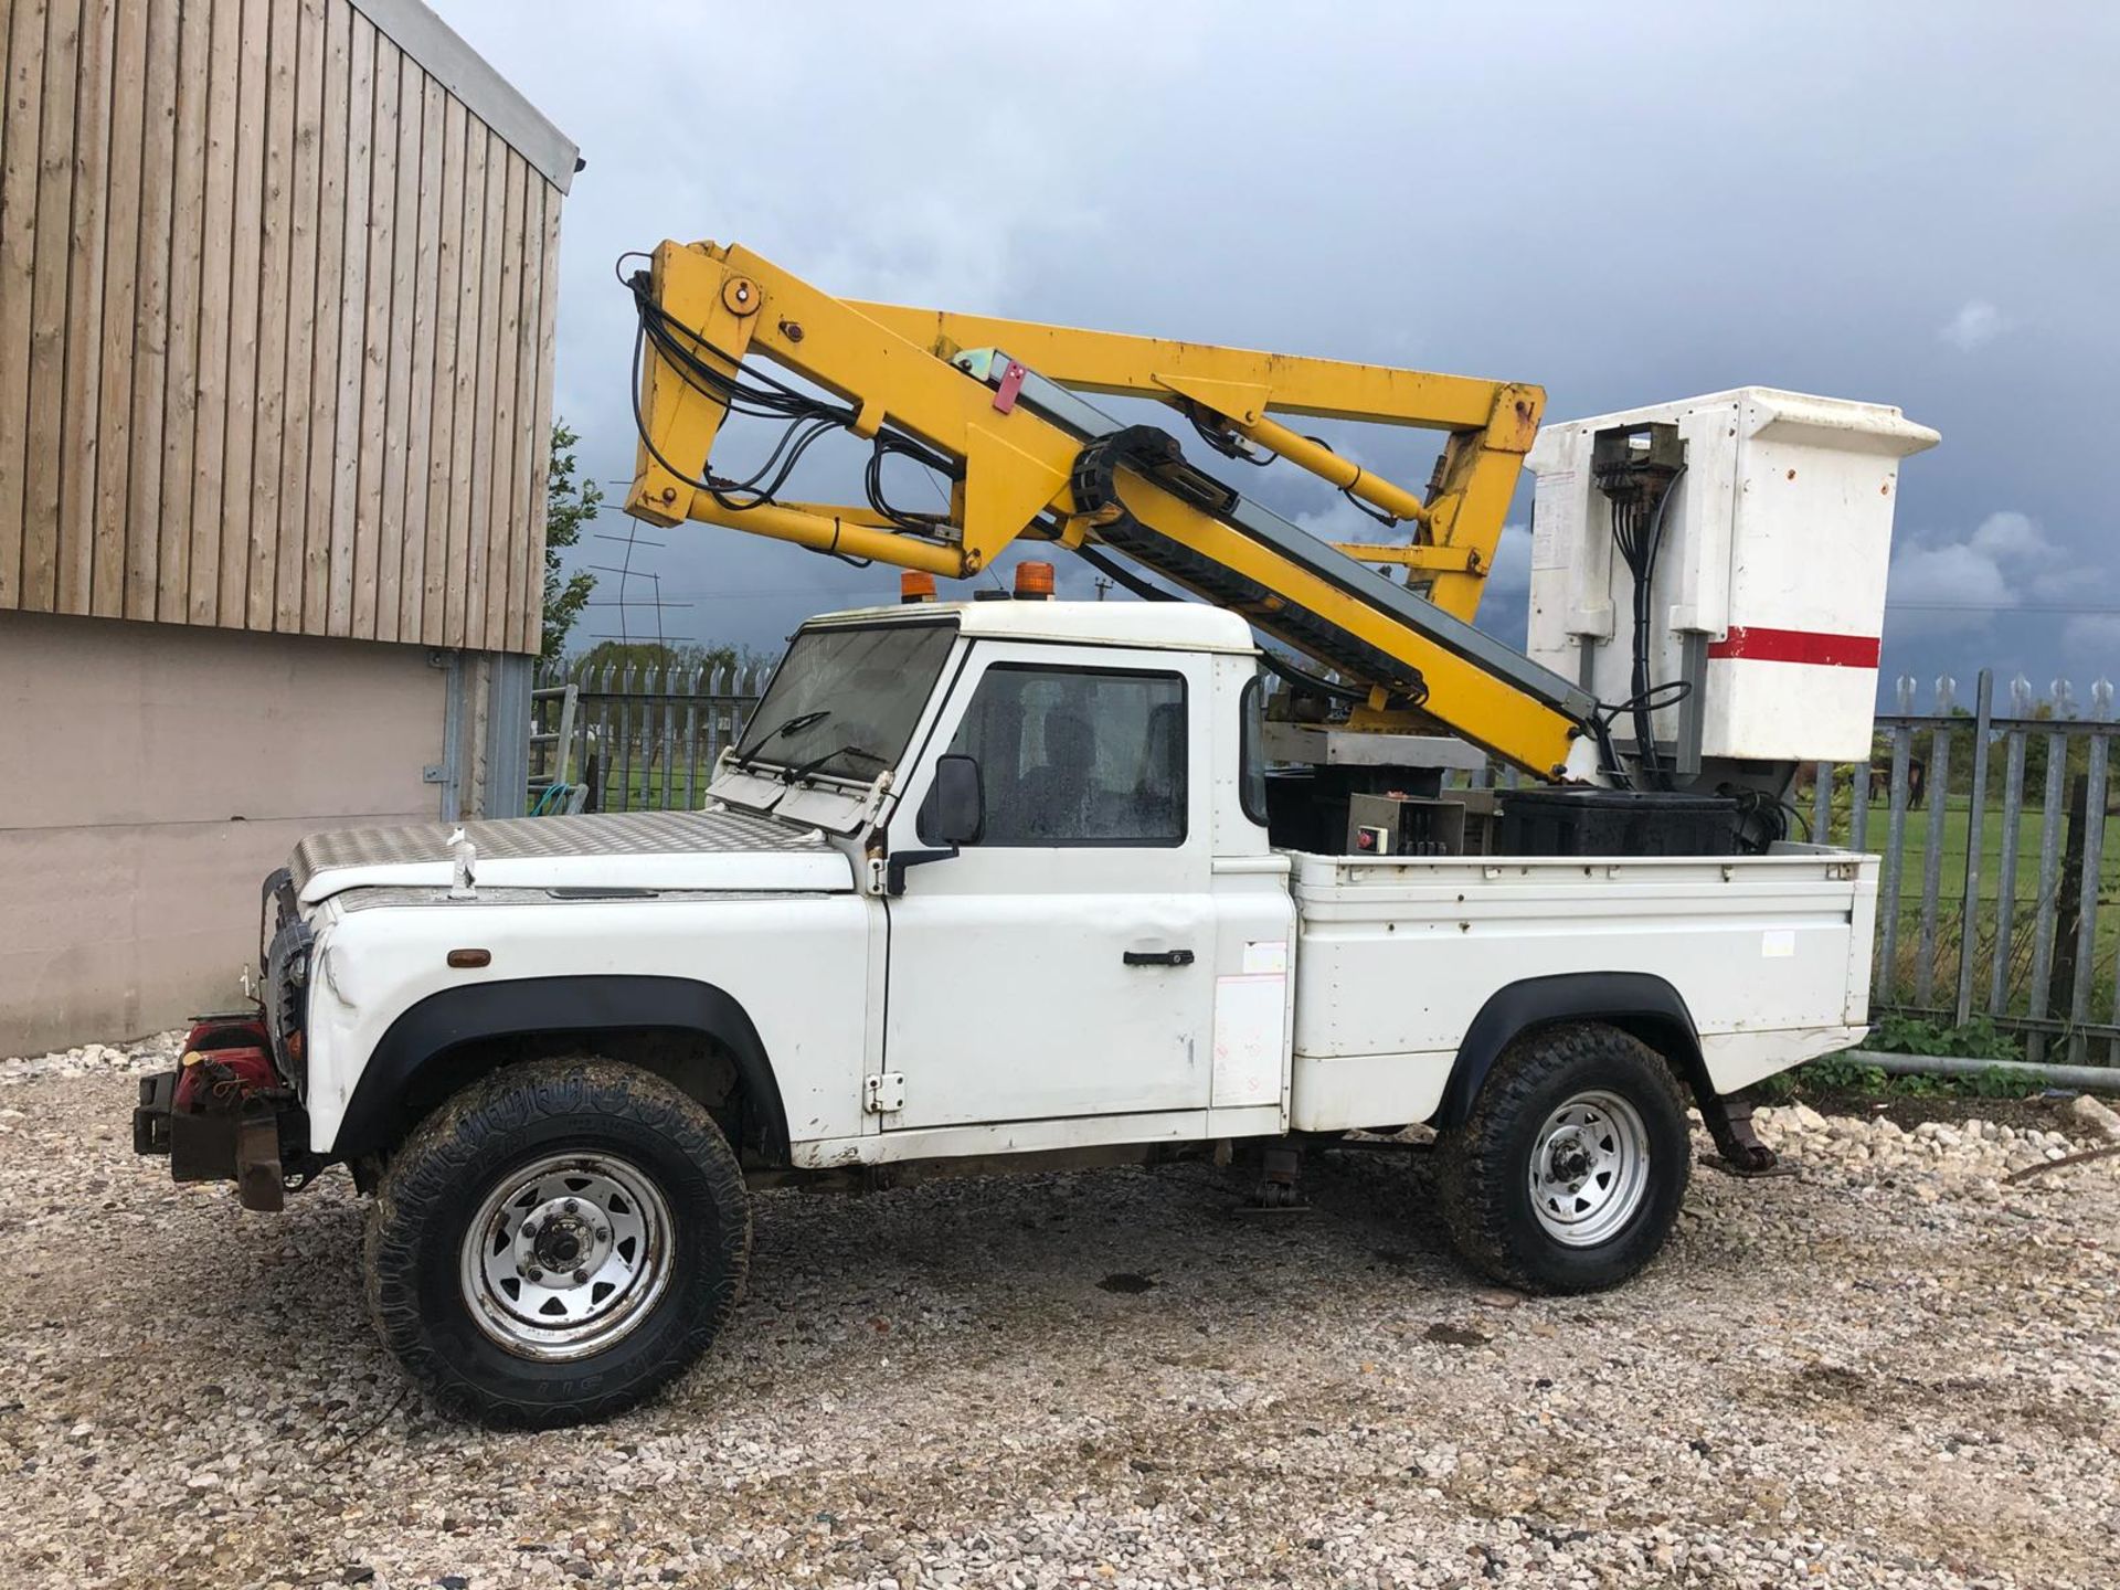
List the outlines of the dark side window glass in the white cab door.
{"label": "dark side window glass in the white cab door", "polygon": [[[1185,681],[1177,674],[988,668],[950,750],[979,761],[982,846],[1185,842]],[[935,842],[924,812],[918,829]]]}

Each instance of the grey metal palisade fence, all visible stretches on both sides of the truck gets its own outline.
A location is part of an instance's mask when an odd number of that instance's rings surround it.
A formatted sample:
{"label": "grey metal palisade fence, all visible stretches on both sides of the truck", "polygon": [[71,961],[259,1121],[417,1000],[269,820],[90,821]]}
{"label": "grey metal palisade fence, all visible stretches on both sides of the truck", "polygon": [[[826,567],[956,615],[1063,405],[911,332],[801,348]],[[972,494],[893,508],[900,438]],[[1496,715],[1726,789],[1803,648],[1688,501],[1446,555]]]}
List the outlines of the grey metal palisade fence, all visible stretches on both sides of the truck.
{"label": "grey metal palisade fence, all visible stretches on both sides of the truck", "polygon": [[[770,668],[547,670],[532,700],[530,810],[689,810]],[[1796,829],[1883,856],[1874,1011],[2020,1035],[2029,1060],[2120,1064],[2120,846],[2105,844],[2114,687],[2037,700],[1982,670],[1972,704],[1902,678],[1868,763],[1798,774]],[[1516,782],[1473,774],[1473,784]]]}

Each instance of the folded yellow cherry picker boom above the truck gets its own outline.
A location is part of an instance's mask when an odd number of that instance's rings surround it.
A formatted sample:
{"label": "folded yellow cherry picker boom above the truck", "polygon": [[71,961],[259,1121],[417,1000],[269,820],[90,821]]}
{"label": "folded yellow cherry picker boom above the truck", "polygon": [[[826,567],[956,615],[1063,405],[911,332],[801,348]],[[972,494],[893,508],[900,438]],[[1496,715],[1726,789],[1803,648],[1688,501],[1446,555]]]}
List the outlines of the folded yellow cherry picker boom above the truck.
{"label": "folded yellow cherry picker boom above the truck", "polygon": [[[1471,623],[1539,430],[1537,386],[837,299],[736,244],[664,242],[630,286],[640,449],[628,513],[946,579],[979,575],[1018,538],[1058,543],[1141,596],[1164,591],[1136,568],[1314,659],[1331,678],[1304,678],[1338,697],[1348,729],[1442,727],[1533,778],[1605,782],[1596,700]],[[1215,454],[1308,471],[1406,534],[1321,541],[1096,396],[1160,401]],[[731,411],[787,422],[744,481],[708,464]],[[1289,420],[1416,426],[1444,447],[1412,492]],[[867,502],[784,500],[795,462],[831,430],[869,441]],[[886,498],[895,456],[952,481],[946,513]]]}

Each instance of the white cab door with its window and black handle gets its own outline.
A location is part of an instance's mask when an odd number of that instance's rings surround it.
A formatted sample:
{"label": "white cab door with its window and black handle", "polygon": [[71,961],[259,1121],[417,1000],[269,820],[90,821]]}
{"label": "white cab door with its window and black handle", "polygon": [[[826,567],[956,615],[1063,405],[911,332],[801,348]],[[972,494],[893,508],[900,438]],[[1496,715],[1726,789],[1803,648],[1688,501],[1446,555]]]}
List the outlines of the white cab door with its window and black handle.
{"label": "white cab door with its window and black handle", "polygon": [[973,653],[890,820],[893,852],[933,848],[935,759],[977,759],[977,842],[888,901],[886,1130],[1208,1105],[1204,695],[1191,655]]}

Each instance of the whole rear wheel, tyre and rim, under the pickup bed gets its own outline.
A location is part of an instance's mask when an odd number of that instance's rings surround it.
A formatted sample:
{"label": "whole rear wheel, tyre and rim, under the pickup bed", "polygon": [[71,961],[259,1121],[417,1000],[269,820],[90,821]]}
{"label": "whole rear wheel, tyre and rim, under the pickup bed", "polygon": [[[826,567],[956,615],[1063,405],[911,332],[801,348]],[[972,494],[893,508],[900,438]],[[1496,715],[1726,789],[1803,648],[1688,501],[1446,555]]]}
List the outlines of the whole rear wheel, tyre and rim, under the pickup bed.
{"label": "whole rear wheel, tyre and rim, under the pickup bed", "polygon": [[1671,1236],[1692,1160],[1662,1056],[1588,1022],[1512,1043],[1439,1147],[1459,1251],[1531,1291],[1598,1291],[1641,1270]]}

